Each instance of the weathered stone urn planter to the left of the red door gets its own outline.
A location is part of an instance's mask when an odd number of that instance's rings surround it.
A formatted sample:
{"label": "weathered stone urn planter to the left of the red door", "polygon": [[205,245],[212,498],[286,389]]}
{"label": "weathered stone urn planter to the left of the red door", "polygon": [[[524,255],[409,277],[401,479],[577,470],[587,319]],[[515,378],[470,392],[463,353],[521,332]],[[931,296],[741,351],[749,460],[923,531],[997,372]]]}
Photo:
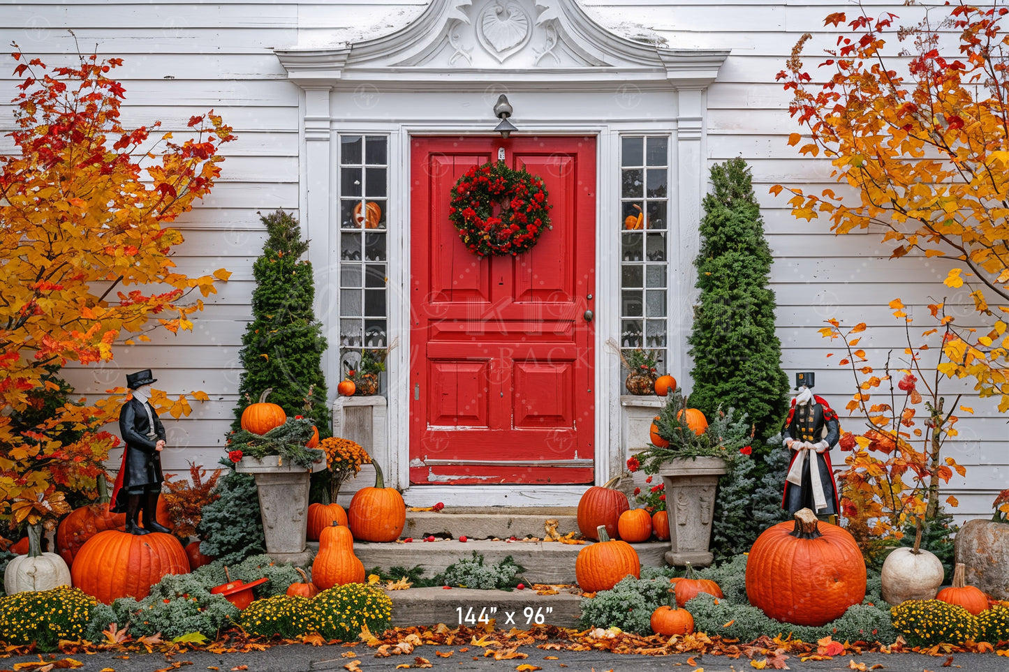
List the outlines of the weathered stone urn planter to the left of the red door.
{"label": "weathered stone urn planter to the left of the red door", "polygon": [[313,472],[325,468],[326,456],[322,451],[311,468],[279,455],[268,455],[261,460],[245,456],[235,465],[235,471],[250,473],[255,478],[266,554],[273,559],[302,565],[311,557],[312,552],[305,544],[310,479]]}

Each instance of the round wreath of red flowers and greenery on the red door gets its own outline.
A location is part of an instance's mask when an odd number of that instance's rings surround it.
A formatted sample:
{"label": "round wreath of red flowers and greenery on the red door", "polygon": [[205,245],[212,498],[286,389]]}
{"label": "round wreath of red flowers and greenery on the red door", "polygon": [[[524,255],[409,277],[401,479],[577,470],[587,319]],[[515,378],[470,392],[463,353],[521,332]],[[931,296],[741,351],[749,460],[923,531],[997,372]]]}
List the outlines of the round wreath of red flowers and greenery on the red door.
{"label": "round wreath of red flowers and greenery on the red door", "polygon": [[477,256],[531,249],[550,226],[543,178],[504,161],[488,161],[466,171],[452,188],[448,218],[466,248]]}

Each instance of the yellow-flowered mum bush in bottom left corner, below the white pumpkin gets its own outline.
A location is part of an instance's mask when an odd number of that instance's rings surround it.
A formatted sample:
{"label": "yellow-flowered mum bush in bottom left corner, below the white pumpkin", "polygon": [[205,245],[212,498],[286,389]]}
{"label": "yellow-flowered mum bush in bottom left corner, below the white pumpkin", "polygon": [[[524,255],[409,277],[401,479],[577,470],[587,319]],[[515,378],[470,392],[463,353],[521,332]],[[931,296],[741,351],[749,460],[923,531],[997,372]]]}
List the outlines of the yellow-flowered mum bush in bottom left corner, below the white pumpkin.
{"label": "yellow-flowered mum bush in bottom left corner, below the white pumpkin", "polygon": [[0,598],[0,641],[11,646],[35,643],[55,651],[60,640],[81,640],[98,604],[80,588],[61,586]]}

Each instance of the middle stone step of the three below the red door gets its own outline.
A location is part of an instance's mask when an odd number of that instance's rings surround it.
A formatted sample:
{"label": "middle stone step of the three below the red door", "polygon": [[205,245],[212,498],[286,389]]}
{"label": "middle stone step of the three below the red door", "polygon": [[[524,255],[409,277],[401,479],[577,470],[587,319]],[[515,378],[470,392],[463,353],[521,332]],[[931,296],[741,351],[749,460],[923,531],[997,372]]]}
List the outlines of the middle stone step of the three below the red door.
{"label": "middle stone step of the three below the red door", "polygon": [[[318,544],[310,542],[318,548]],[[646,542],[632,544],[644,567],[664,567],[664,554],[669,550],[669,542]],[[459,560],[470,559],[473,552],[483,556],[484,564],[500,562],[512,556],[518,564],[526,568],[523,576],[527,583],[574,583],[575,559],[583,544],[561,544],[559,542],[523,542],[475,540],[460,542],[456,539],[412,543],[388,542],[375,544],[354,542],[354,554],[364,564],[365,569],[380,567],[388,571],[393,567],[413,569],[420,566],[423,576],[430,578]]]}

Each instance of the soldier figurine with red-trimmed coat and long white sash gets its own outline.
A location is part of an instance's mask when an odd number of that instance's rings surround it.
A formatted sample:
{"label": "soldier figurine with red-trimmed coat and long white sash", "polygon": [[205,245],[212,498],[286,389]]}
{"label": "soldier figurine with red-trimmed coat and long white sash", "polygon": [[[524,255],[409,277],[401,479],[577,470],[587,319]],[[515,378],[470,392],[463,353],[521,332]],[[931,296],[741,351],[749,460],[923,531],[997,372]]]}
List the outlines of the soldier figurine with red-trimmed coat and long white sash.
{"label": "soldier figurine with red-trimmed coat and long white sash", "polygon": [[795,374],[799,390],[785,421],[784,445],[792,451],[785,480],[782,509],[789,515],[809,509],[817,516],[834,516],[840,510],[829,450],[840,438],[837,414],[821,397],[813,395],[814,374]]}

